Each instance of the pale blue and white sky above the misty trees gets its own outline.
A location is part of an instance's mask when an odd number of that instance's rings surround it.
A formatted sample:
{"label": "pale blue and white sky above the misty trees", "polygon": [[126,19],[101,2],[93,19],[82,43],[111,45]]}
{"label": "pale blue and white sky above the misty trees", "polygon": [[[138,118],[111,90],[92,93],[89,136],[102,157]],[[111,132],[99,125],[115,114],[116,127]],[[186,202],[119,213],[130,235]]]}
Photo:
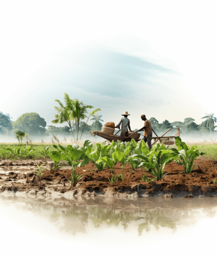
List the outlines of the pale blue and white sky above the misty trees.
{"label": "pale blue and white sky above the misty trees", "polygon": [[215,1],[4,1],[0,111],[51,125],[68,93],[104,123],[199,124],[217,113],[216,23]]}

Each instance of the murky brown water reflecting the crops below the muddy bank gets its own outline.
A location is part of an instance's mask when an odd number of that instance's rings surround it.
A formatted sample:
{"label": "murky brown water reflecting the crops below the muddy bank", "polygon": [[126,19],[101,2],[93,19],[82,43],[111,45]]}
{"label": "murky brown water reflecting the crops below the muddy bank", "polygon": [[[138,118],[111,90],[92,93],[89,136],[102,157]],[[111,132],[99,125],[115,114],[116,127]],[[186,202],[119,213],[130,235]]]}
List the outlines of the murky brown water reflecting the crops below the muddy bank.
{"label": "murky brown water reflecting the crops below the muddy bank", "polygon": [[[17,210],[30,211],[46,218],[62,232],[75,236],[90,233],[91,228],[116,227],[127,231],[132,229],[138,236],[151,230],[170,229],[174,233],[178,227],[193,225],[204,217],[216,216],[215,198],[173,198],[138,199],[138,202],[114,200],[111,204],[93,202],[46,202],[24,200],[16,197],[1,197],[1,204],[14,204]],[[142,206],[141,206],[142,205]]]}

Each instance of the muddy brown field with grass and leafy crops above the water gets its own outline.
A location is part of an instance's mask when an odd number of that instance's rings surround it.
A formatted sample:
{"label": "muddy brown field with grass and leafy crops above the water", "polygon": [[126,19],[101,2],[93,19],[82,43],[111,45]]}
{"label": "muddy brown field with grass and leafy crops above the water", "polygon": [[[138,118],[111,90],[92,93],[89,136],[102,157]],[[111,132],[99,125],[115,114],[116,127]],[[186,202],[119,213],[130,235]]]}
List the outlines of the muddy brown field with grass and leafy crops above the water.
{"label": "muddy brown field with grass and leafy crops above the water", "polygon": [[[175,162],[172,156],[168,156],[171,160],[166,162],[165,168],[161,168],[163,162],[159,164],[159,161],[163,161],[163,155],[155,163],[156,168],[151,167],[155,159],[151,160],[145,156],[149,153],[145,143],[137,145],[135,141],[131,141],[127,145],[114,143],[103,146],[99,143],[91,145],[90,142],[86,142],[85,145],[69,147],[73,153],[69,154],[64,151],[67,145],[61,149],[57,145],[32,144],[27,149],[25,144],[0,144],[1,192],[26,193],[29,197],[62,197],[64,194],[64,197],[69,198],[95,197],[99,194],[124,198],[217,196],[215,144],[197,146],[197,149],[205,154],[195,158],[196,165],[189,173],[186,167]],[[165,150],[162,144],[157,144],[153,152],[158,154],[159,150],[163,150],[165,152],[160,154],[168,152],[174,157],[177,147],[180,145],[174,144]],[[58,159],[58,150],[63,150],[62,154],[65,154],[62,160],[62,155]],[[81,163],[84,163],[82,161],[85,161],[84,157],[79,158],[82,154],[77,159],[73,157],[76,155],[75,152],[82,153],[82,150],[89,159],[87,164],[81,166]],[[133,154],[141,156],[139,158]],[[110,162],[107,156],[111,157]],[[67,157],[71,157],[74,162]],[[105,163],[100,162],[100,157]],[[155,169],[157,172],[158,167],[161,169],[158,170],[158,176],[149,169]],[[77,178],[78,181],[74,182]]]}

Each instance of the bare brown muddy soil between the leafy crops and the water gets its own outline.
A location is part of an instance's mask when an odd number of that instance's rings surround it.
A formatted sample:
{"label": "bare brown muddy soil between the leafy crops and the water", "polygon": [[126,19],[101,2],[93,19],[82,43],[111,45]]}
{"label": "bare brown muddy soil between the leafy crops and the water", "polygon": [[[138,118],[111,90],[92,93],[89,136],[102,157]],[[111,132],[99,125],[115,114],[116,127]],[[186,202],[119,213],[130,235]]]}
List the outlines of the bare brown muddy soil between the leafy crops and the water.
{"label": "bare brown muddy soil between the leafy crops and the water", "polygon": [[[28,197],[65,197],[92,198],[98,195],[116,198],[135,197],[213,197],[217,196],[217,161],[196,160],[199,167],[195,167],[192,174],[184,174],[184,168],[175,162],[167,164],[164,173],[167,178],[159,181],[144,182],[141,177],[144,170],[139,168],[133,172],[131,166],[126,164],[124,180],[120,178],[111,184],[111,171],[105,168],[98,172],[92,163],[77,168],[77,173],[84,174],[76,187],[71,187],[71,169],[65,166],[62,170],[50,170],[52,161],[41,160],[47,170],[42,176],[42,185],[39,185],[35,161],[0,161],[0,192],[11,194],[25,194]],[[117,174],[122,173],[120,164],[116,166]],[[146,176],[153,178],[150,174]]]}

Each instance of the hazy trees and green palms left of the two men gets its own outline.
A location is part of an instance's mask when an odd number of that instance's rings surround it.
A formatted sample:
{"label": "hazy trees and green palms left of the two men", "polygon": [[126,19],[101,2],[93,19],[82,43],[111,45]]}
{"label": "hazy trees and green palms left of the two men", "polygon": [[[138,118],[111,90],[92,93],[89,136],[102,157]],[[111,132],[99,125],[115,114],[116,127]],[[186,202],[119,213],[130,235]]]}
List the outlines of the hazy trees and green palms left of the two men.
{"label": "hazy trees and green palms left of the two men", "polygon": [[[12,121],[9,114],[0,112],[0,134],[4,135],[17,135],[28,134],[29,136],[44,136],[44,135],[72,135],[74,139],[81,138],[82,135],[89,135],[91,130],[101,130],[102,124],[100,123],[101,115],[98,115],[100,108],[88,111],[93,108],[91,105],[85,105],[84,102],[78,99],[70,99],[68,94],[65,93],[65,105],[59,100],[59,107],[54,107],[56,110],[55,119],[52,121],[54,124],[67,123],[68,125],[56,127],[48,125],[44,118],[40,117],[37,113],[22,114],[16,121]],[[87,121],[94,120],[92,125],[88,125]],[[103,120],[101,120],[103,121]],[[46,129],[47,126],[47,129]],[[18,132],[18,133],[17,133]]]}

